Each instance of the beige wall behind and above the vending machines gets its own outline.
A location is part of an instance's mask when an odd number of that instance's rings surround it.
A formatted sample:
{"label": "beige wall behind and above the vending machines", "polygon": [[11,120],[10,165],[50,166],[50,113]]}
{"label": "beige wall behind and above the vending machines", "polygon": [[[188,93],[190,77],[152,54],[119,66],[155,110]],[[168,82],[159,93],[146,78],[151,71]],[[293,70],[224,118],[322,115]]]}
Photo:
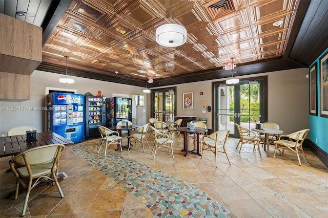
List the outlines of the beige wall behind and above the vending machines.
{"label": "beige wall behind and above the vending machines", "polygon": [[[22,102],[8,102],[0,101],[0,135],[7,134],[8,129],[14,126],[34,126],[39,132],[44,131],[45,128],[45,111],[34,111],[30,107],[43,107],[45,106],[45,87],[60,88],[60,89],[73,89],[77,90],[78,94],[85,94],[90,92],[93,95],[97,94],[100,90],[106,97],[112,97],[112,94],[142,94],[141,87],[117,84],[113,82],[105,82],[94,79],[86,79],[80,77],[71,77],[75,80],[73,84],[59,83],[58,79],[63,75],[34,71],[31,74],[31,97],[30,100]],[[146,102],[149,100],[150,94],[146,94]],[[142,124],[148,120],[150,115],[147,114],[146,107],[137,108],[137,124]],[[23,111],[17,111],[23,108]],[[28,109],[27,109],[28,108]],[[8,111],[9,110],[9,111]],[[13,111],[16,110],[16,111]],[[145,110],[145,112],[144,112]]]}

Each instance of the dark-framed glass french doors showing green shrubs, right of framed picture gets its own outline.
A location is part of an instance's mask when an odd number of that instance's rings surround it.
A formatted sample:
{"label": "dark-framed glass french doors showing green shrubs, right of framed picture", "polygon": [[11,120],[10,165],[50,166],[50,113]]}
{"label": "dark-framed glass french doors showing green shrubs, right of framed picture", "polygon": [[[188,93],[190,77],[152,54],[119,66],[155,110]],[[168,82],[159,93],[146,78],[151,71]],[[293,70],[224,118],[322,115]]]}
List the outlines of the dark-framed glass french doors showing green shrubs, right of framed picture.
{"label": "dark-framed glass french doors showing green shrubs, right of framed picture", "polygon": [[266,77],[242,80],[238,84],[214,85],[214,129],[229,129],[231,137],[239,137],[235,123],[251,129],[255,123],[267,121],[265,102]]}

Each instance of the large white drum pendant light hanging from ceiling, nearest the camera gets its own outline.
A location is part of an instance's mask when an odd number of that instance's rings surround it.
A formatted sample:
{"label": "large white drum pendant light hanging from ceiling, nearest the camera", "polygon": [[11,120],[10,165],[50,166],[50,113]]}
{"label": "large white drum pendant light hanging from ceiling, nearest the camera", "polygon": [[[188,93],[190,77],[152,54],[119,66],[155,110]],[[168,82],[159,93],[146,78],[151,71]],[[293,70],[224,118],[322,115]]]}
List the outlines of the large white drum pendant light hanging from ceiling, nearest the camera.
{"label": "large white drum pendant light hanging from ceiling, nearest the camera", "polygon": [[156,29],[156,41],[164,47],[177,47],[187,41],[187,30],[185,27],[172,24],[172,0],[170,7],[170,24],[159,26]]}

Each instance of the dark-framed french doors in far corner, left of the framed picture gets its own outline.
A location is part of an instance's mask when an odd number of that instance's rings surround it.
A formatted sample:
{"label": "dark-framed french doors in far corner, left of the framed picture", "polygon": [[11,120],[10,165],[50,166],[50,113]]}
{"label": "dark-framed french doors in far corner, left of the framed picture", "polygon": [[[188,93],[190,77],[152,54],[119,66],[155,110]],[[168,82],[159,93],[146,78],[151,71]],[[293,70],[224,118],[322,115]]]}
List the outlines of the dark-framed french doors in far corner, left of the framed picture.
{"label": "dark-framed french doors in far corner, left of the framed picture", "polygon": [[151,91],[152,118],[174,121],[176,115],[176,87]]}

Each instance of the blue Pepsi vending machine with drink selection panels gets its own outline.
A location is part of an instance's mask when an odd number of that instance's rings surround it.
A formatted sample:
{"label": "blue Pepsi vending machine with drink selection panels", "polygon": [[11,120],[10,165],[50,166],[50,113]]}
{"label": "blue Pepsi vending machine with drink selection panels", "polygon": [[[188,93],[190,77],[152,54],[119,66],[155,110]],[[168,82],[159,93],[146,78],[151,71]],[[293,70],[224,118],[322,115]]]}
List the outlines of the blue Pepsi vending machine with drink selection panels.
{"label": "blue Pepsi vending machine with drink selection panels", "polygon": [[84,141],[84,95],[50,93],[47,95],[48,131],[74,143]]}

